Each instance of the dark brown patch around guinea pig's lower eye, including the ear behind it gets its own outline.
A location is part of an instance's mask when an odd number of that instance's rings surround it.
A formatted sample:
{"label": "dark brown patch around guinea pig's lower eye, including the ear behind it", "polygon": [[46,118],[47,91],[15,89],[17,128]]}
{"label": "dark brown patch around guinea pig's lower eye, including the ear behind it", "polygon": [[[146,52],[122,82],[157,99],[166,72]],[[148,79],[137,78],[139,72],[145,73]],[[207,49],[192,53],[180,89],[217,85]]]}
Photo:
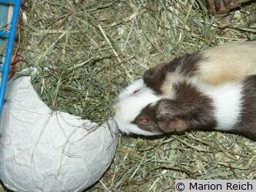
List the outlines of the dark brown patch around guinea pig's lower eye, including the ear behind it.
{"label": "dark brown patch around guinea pig's lower eye, including the ear behind it", "polygon": [[210,129],[216,125],[211,98],[188,82],[178,82],[174,91],[175,99],[166,98],[156,104],[148,104],[132,123],[142,130],[158,133]]}

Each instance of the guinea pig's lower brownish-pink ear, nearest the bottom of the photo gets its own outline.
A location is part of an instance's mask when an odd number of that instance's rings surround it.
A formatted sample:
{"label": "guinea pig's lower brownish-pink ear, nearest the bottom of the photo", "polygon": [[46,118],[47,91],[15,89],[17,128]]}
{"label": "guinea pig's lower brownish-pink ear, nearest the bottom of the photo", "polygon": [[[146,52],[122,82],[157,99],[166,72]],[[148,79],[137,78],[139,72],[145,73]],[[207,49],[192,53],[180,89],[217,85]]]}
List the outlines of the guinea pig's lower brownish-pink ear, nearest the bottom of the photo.
{"label": "guinea pig's lower brownish-pink ear, nearest the bottom of the photo", "polygon": [[173,118],[169,121],[158,121],[158,127],[165,133],[181,132],[188,129],[190,123],[181,118]]}

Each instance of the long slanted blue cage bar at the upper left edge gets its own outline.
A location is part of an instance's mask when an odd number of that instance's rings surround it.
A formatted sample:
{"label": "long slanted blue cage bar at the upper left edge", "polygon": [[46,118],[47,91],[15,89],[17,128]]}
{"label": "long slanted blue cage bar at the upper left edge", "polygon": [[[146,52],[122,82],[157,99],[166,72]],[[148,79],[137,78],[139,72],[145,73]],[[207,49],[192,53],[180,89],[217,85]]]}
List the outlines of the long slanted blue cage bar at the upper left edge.
{"label": "long slanted blue cage bar at the upper left edge", "polygon": [[5,56],[5,64],[4,69],[2,72],[2,81],[0,86],[0,118],[2,117],[2,108],[5,103],[5,91],[7,87],[7,81],[8,81],[8,74],[10,71],[10,65],[12,61],[12,49],[15,43],[15,35],[16,35],[16,28],[18,24],[18,13],[19,8],[21,7],[22,0],[15,0],[15,1],[8,1],[8,0],[0,0],[0,2],[14,2],[14,10],[12,15],[12,23],[11,23],[11,29],[10,34],[8,37],[8,44],[6,48],[6,56]]}

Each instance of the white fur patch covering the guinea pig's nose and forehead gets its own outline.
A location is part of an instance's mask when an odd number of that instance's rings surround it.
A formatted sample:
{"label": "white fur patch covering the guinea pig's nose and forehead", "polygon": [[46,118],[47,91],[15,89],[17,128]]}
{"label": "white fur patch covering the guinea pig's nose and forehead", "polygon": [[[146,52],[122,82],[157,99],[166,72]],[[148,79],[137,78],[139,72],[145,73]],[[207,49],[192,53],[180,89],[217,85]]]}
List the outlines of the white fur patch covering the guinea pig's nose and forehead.
{"label": "white fur patch covering the guinea pig's nose and forehead", "polygon": [[[132,84],[131,84],[132,85]],[[138,85],[138,84],[137,84]],[[135,86],[136,87],[136,86]],[[135,88],[132,87],[132,88]],[[138,87],[137,87],[138,88]],[[152,133],[150,131],[141,130],[136,124],[132,124],[132,121],[135,121],[135,118],[138,114],[141,113],[141,110],[145,108],[148,104],[154,103],[161,99],[154,92],[145,86],[142,86],[141,89],[135,94],[130,94],[128,92],[132,89],[128,88],[124,93],[119,95],[120,101],[116,106],[115,112],[115,121],[118,124],[119,129],[126,134],[143,134],[143,135],[155,135],[157,133]],[[133,91],[131,91],[133,92]],[[131,93],[130,92],[130,93]]]}

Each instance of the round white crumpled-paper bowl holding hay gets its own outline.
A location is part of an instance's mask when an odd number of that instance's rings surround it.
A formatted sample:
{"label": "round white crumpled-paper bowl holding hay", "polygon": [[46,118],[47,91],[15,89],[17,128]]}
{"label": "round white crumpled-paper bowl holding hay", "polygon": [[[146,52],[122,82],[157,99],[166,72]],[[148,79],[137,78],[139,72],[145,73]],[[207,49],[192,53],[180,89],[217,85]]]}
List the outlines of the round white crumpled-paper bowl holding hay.
{"label": "round white crumpled-paper bowl holding hay", "polygon": [[15,191],[81,191],[111,164],[116,125],[95,131],[88,120],[52,112],[38,98],[30,78],[8,84],[0,127],[0,177]]}

